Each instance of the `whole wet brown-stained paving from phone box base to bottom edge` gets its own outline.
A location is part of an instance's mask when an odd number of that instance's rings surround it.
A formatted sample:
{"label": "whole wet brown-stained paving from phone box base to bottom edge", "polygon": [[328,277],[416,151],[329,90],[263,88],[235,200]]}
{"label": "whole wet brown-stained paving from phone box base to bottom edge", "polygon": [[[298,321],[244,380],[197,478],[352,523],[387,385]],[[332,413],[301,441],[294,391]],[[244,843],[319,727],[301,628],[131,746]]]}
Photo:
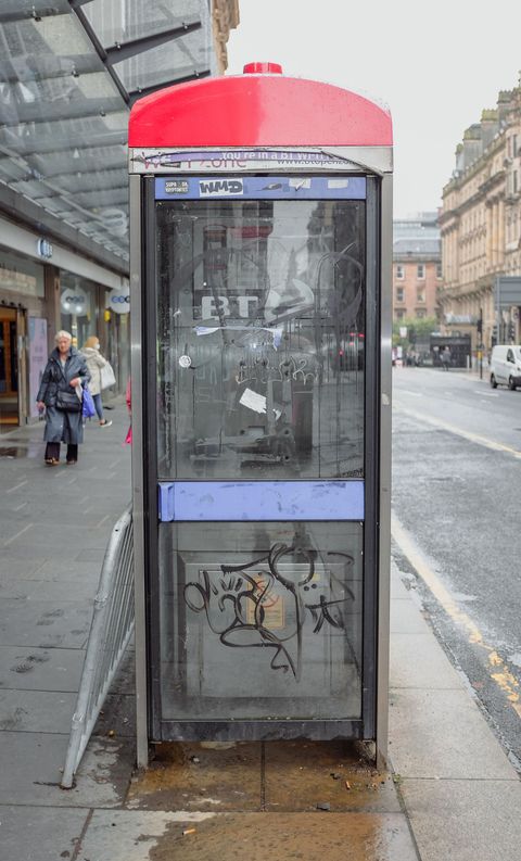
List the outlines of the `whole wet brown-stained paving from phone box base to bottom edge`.
{"label": "whole wet brown-stained paving from phone box base to bottom edge", "polygon": [[392,776],[342,742],[168,744],[131,809],[183,811],[150,859],[416,861]]}

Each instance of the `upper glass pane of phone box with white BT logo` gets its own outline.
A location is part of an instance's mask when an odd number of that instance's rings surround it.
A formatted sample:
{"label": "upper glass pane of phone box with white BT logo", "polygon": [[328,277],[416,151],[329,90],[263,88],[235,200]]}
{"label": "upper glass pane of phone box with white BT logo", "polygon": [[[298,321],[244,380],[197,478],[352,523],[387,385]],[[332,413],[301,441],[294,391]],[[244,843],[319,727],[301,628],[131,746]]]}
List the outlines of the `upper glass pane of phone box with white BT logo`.
{"label": "upper glass pane of phone box with white BT logo", "polygon": [[160,201],[160,478],[354,478],[365,201]]}

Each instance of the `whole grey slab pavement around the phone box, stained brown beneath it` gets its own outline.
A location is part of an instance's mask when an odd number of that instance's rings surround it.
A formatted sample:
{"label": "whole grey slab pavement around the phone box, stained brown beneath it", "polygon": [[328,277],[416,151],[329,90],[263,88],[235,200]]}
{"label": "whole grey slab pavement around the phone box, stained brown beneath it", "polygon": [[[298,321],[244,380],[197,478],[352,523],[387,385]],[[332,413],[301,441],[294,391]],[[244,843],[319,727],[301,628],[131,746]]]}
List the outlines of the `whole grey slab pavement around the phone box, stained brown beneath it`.
{"label": "whole grey slab pavement around the phone box, stained brown beneath it", "polygon": [[364,746],[270,742],[162,745],[138,773],[129,649],[60,788],[103,554],[130,498],[126,407],[111,406],[75,467],[43,465],[41,423],[0,435],[0,861],[518,858],[520,775],[395,562],[387,771]]}

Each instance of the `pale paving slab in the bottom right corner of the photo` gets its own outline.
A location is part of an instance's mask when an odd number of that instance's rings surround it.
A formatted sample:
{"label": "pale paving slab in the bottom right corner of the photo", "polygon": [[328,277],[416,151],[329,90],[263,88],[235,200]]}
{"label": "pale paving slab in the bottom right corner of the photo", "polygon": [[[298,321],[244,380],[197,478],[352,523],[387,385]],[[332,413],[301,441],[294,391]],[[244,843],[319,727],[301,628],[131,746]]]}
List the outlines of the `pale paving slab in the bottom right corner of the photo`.
{"label": "pale paving slab in the bottom right corner of the photo", "polygon": [[519,781],[404,780],[401,792],[421,861],[519,858]]}

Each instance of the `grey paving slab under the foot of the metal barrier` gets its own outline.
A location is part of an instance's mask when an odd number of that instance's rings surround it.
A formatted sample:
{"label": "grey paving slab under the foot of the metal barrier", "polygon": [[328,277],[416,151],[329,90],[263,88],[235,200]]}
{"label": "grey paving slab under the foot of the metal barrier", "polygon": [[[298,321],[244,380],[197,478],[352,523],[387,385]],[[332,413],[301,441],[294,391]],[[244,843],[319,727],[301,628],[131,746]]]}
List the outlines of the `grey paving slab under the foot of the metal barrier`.
{"label": "grey paving slab under the foot of the metal barrier", "polygon": [[60,780],[67,745],[65,734],[0,732],[2,774],[9,775],[9,780],[0,781],[0,805],[119,807],[135,761],[134,745],[123,739],[92,738],[76,786],[64,790]]}

